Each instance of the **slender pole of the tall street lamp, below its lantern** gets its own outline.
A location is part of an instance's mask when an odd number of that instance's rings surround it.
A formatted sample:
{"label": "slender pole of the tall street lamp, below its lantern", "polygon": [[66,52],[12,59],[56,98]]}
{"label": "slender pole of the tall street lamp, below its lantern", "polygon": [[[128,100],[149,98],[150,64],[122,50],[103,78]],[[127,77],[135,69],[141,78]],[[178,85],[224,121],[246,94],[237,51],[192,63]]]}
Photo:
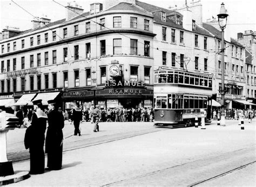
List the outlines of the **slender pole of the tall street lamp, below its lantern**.
{"label": "slender pole of the tall street lamp, below its lantern", "polygon": [[225,86],[224,86],[224,73],[225,73],[225,63],[224,63],[224,26],[221,27],[221,118],[220,126],[226,126],[225,124]]}

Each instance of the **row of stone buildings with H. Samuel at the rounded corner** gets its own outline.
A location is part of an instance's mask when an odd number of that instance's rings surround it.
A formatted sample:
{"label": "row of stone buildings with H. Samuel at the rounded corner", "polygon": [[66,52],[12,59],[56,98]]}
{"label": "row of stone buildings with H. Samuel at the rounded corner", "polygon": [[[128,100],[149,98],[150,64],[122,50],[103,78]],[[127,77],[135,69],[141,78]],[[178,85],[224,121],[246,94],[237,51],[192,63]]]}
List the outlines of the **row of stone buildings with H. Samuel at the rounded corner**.
{"label": "row of stone buildings with H. Samuel at the rounded corner", "polygon": [[[28,106],[34,99],[47,105],[55,98],[66,110],[77,102],[83,108],[154,107],[159,67],[209,74],[212,98],[219,102],[221,32],[217,20],[203,23],[201,9],[200,1],[165,9],[110,0],[84,12],[68,3],[63,19],[35,18],[26,31],[6,27],[0,40],[0,107]],[[225,39],[226,98],[244,105],[255,97],[255,87],[246,92],[245,47]]]}

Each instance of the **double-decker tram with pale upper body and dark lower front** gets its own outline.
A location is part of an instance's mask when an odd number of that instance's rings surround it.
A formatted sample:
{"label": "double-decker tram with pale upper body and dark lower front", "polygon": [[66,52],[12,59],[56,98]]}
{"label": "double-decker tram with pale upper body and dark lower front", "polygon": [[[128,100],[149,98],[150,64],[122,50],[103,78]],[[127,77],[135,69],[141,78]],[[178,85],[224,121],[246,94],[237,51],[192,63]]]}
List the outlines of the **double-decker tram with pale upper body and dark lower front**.
{"label": "double-decker tram with pale upper body and dark lower front", "polygon": [[211,97],[211,74],[159,67],[154,71],[154,125],[193,126],[196,116],[200,122],[200,110],[211,116]]}

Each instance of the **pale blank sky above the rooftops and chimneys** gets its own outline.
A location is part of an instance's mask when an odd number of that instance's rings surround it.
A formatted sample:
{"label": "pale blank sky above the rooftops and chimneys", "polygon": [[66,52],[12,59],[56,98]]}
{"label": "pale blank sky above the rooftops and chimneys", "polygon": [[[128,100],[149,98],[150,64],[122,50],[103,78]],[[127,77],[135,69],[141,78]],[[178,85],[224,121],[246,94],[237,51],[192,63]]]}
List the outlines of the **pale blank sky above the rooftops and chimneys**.
{"label": "pale blank sky above the rooftops and chimneys", "polygon": [[[14,2],[22,6],[18,7]],[[71,1],[55,0],[56,2],[67,5]],[[84,12],[90,10],[90,4],[95,2],[103,2],[104,0],[77,0],[76,3],[84,9]],[[183,5],[185,0],[139,0],[141,2],[157,5],[163,8],[169,6]],[[192,0],[187,0],[188,5]],[[194,0],[196,2],[198,0]],[[160,5],[159,5],[159,2]],[[237,33],[246,30],[256,31],[255,20],[255,0],[201,0],[203,4],[203,22],[208,18],[217,17],[220,4],[224,2],[228,12],[227,27],[231,31],[230,36],[237,39]],[[65,8],[52,0],[0,0],[0,31],[5,26],[19,27],[19,30],[31,29],[31,20],[33,16],[42,17],[46,15],[51,21],[65,18]]]}

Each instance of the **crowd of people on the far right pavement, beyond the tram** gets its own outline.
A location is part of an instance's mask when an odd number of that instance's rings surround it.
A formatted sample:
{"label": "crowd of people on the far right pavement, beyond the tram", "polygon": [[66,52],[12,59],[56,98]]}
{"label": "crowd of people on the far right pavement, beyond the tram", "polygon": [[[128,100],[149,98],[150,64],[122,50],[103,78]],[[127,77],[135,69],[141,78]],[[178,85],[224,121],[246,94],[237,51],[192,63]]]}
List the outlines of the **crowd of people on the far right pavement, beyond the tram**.
{"label": "crowd of people on the far right pavement, beyond the tram", "polygon": [[[218,114],[220,116],[221,110],[220,109],[213,109],[212,110],[212,119],[217,120]],[[238,120],[239,116],[242,115],[245,119],[252,120],[255,116],[255,109],[225,109],[225,119],[226,120]]]}

